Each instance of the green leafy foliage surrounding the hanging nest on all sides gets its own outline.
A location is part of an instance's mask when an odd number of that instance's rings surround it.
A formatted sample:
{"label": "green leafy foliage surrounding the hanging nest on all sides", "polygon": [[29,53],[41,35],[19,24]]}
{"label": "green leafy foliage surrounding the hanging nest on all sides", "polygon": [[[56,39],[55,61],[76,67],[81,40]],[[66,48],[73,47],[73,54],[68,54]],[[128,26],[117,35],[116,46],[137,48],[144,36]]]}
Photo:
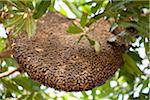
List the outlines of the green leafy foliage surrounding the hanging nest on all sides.
{"label": "green leafy foliage surrounding the hanging nest on all sides", "polygon": [[[14,29],[14,35],[21,31],[27,31],[31,37],[36,30],[36,20],[46,11],[55,11],[54,5],[58,0],[1,0],[0,1],[0,22],[7,29]],[[149,36],[149,1],[138,0],[62,0],[70,11],[80,19],[80,24],[74,24],[67,30],[73,34],[81,34],[80,40],[86,37],[91,45],[98,50],[100,45],[86,36],[86,28],[99,18],[113,18],[110,31],[117,26],[125,30],[118,33],[123,34],[126,43],[130,45],[129,50],[123,54],[124,65],[118,70],[115,76],[104,85],[94,88],[92,91],[77,93],[64,93],[40,86],[39,83],[31,80],[26,74],[5,77],[0,80],[0,99],[141,99],[148,100],[148,92],[143,92],[148,88],[149,77],[146,71],[149,65],[145,61],[150,60],[150,36]],[[145,13],[146,11],[146,13]],[[60,6],[60,13],[67,16],[68,12]],[[79,40],[79,42],[80,42]],[[0,38],[0,51],[6,49],[7,39]],[[98,47],[97,47],[98,46]],[[140,56],[139,49],[144,48],[146,55]],[[2,72],[17,66],[14,58],[4,58],[0,60]],[[144,67],[143,67],[144,66]],[[113,85],[112,85],[113,84]],[[150,91],[150,90],[148,90]],[[64,93],[59,96],[58,94]],[[139,94],[136,96],[136,94]]]}

